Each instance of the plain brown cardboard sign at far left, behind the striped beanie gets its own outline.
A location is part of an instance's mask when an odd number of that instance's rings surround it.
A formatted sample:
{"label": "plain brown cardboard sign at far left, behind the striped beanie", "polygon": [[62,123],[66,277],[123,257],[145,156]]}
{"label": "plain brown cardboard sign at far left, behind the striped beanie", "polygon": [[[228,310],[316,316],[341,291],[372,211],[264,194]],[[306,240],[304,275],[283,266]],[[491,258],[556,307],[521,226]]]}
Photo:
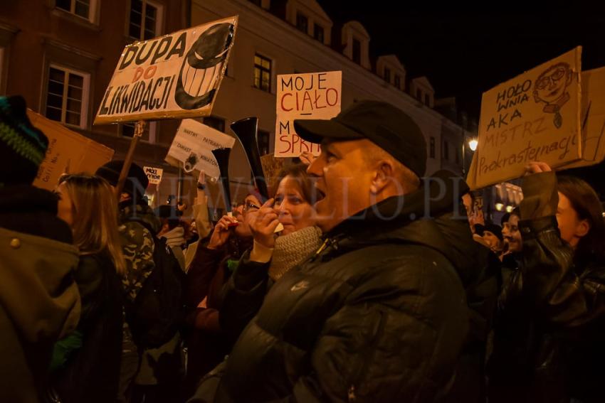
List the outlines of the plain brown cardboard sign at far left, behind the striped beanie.
{"label": "plain brown cardboard sign at far left, behind the striped beanie", "polygon": [[27,116],[31,124],[48,137],[46,157],[40,164],[33,186],[53,190],[63,173],[95,173],[97,168],[111,161],[114,151],[109,147],[30,109]]}

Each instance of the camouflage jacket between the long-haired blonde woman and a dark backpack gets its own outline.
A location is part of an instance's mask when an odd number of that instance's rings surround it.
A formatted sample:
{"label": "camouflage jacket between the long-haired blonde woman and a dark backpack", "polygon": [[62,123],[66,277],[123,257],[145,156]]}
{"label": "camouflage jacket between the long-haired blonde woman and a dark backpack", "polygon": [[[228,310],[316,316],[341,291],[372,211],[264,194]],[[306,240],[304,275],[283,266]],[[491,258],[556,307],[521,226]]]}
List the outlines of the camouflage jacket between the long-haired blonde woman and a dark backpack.
{"label": "camouflage jacket between the long-haired blonde woman and a dark backpack", "polygon": [[148,205],[132,205],[130,200],[120,203],[120,237],[126,260],[122,285],[130,301],[135,301],[154,268],[154,236],[160,227],[159,219]]}

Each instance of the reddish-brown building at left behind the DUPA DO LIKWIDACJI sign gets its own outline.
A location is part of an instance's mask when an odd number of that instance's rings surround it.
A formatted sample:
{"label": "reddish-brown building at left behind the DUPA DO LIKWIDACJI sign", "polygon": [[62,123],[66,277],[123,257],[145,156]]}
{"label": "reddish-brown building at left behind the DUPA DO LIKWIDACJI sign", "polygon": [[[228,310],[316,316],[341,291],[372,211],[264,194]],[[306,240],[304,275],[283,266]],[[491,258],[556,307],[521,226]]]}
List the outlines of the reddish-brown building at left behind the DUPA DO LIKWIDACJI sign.
{"label": "reddish-brown building at left behind the DUPA DO LIKWIDACJI sign", "polygon": [[[29,108],[123,159],[135,125],[93,125],[122,49],[189,26],[189,6],[189,0],[0,1],[0,94],[22,95]],[[177,193],[177,168],[163,161],[178,124],[150,122],[137,147],[136,163],[164,168],[162,188],[148,189],[154,204]]]}

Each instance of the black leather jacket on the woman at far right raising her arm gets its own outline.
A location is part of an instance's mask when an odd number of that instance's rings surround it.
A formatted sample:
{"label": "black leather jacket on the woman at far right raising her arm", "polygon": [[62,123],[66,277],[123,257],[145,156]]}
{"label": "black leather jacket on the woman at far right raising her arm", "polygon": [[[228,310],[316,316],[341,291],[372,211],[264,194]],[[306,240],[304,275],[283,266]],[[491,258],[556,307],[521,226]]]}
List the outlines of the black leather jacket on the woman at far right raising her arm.
{"label": "black leather jacket on the woman at far right raising her arm", "polygon": [[523,191],[523,250],[498,301],[490,402],[602,402],[604,262],[576,264],[559,237],[554,172],[527,177]]}

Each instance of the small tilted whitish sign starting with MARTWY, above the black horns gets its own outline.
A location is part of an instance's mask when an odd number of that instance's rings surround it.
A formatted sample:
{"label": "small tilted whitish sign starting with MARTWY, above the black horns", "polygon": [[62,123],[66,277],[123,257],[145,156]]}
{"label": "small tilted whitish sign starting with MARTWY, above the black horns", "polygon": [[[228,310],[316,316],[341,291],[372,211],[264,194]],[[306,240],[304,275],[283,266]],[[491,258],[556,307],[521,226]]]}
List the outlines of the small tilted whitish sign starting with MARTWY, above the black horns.
{"label": "small tilted whitish sign starting with MARTWY, above the black horns", "polygon": [[193,119],[184,119],[174,136],[166,157],[173,166],[183,164],[186,173],[204,171],[210,178],[219,178],[221,172],[212,150],[231,149],[236,139]]}

